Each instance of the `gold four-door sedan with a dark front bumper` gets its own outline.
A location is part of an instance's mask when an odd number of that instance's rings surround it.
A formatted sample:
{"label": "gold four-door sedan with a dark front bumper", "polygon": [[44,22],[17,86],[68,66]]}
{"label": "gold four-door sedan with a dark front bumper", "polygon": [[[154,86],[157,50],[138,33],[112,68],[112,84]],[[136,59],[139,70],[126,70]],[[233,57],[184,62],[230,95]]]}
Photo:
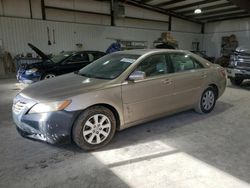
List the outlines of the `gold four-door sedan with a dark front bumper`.
{"label": "gold four-door sedan with a dark front bumper", "polygon": [[121,51],[28,86],[12,112],[24,137],[93,150],[116,130],[187,109],[209,113],[225,87],[225,70],[191,52]]}

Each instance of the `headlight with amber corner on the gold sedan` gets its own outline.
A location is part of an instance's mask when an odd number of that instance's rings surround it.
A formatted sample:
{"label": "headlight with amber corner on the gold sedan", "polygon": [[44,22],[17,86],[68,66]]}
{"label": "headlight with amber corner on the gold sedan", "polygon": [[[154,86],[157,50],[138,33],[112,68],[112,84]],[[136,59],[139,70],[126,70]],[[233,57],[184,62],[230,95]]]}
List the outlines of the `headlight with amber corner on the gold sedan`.
{"label": "headlight with amber corner on the gold sedan", "polygon": [[71,100],[49,102],[49,103],[38,103],[30,109],[29,114],[54,112],[54,111],[63,110],[67,106],[69,106],[70,103],[71,103]]}

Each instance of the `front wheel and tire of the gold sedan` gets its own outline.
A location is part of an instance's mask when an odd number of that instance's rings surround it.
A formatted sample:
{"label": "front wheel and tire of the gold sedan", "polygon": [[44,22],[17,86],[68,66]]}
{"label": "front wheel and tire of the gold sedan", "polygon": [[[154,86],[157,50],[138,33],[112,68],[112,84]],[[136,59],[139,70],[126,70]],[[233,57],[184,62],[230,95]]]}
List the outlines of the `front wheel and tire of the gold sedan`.
{"label": "front wheel and tire of the gold sedan", "polygon": [[81,149],[89,151],[108,144],[114,137],[115,130],[116,119],[112,111],[103,106],[94,106],[77,118],[72,137]]}

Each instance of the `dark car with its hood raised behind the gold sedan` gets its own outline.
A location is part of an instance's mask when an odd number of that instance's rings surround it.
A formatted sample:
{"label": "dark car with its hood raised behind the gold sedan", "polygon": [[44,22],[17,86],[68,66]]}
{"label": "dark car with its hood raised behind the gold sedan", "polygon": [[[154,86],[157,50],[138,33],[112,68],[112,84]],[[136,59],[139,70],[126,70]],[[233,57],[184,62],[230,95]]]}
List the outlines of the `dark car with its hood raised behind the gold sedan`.
{"label": "dark car with its hood raised behind the gold sedan", "polygon": [[50,58],[32,44],[28,45],[42,58],[41,62],[20,65],[17,79],[28,84],[80,70],[105,55],[100,51],[66,51]]}

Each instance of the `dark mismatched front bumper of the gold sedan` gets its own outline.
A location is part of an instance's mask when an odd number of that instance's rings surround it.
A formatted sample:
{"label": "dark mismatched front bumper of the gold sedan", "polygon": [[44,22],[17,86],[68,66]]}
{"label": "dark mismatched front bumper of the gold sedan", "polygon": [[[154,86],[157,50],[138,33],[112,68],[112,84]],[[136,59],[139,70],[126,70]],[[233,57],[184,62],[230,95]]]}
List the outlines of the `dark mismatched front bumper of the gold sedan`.
{"label": "dark mismatched front bumper of the gold sedan", "polygon": [[25,107],[20,107],[21,111],[13,105],[12,116],[20,135],[51,144],[70,143],[72,126],[80,111],[28,114],[34,104],[25,103]]}

